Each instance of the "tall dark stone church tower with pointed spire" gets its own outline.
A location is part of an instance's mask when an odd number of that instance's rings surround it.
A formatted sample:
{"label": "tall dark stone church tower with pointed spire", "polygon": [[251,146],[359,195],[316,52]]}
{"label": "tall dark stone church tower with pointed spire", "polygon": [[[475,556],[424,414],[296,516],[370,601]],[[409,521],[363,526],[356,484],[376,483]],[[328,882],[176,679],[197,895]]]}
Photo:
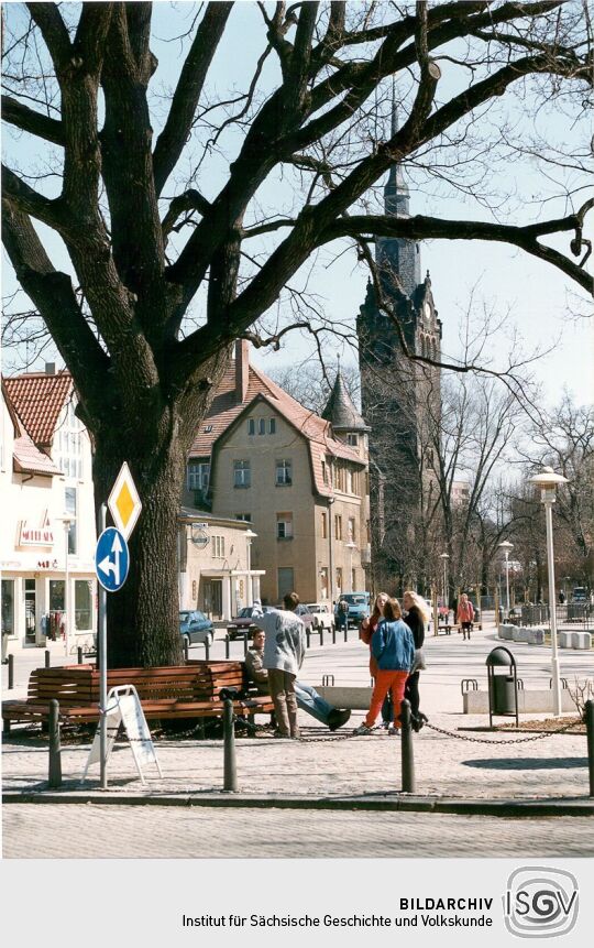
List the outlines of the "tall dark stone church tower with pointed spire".
{"label": "tall dark stone church tower with pointed spire", "polygon": [[[398,218],[410,214],[410,192],[399,163],[391,167],[384,187],[384,213]],[[397,593],[403,585],[424,585],[419,545],[430,495],[435,502],[432,464],[441,403],[440,370],[410,361],[398,330],[410,353],[439,359],[441,322],[429,272],[421,280],[417,241],[378,238],[375,262],[384,305],[370,281],[358,317],[361,403],[371,427],[374,586]]]}

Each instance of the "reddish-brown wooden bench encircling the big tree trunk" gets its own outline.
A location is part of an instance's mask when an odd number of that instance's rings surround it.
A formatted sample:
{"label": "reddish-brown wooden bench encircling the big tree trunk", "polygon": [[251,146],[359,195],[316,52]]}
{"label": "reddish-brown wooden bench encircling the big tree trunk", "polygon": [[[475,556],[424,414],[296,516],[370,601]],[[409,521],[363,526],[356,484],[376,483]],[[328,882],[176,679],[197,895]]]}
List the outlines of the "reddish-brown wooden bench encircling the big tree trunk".
{"label": "reddish-brown wooden bench encircling the big tree trunk", "polygon": [[[117,685],[134,685],[147,720],[220,718],[224,704],[221,688],[235,688],[235,715],[253,722],[256,713],[272,713],[267,695],[258,695],[248,678],[244,662],[190,661],[186,665],[108,671],[108,690]],[[59,701],[63,722],[99,720],[99,671],[95,665],[35,668],[29,678],[25,700],[2,701],[4,731],[12,722],[45,723],[50,701]]]}

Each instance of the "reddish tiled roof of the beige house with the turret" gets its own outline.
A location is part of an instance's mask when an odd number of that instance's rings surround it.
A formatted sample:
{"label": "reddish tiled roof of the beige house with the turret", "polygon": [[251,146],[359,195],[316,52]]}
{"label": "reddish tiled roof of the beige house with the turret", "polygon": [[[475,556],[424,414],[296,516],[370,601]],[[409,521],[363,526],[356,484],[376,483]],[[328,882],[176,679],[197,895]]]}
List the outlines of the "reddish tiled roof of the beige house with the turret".
{"label": "reddish tiled roof of the beige house with the turret", "polygon": [[210,406],[207,417],[201,422],[190,449],[190,457],[209,457],[212,446],[233,424],[235,418],[245,411],[255,397],[261,395],[266,399],[271,407],[276,410],[289,424],[296,427],[309,444],[311,468],[318,493],[330,495],[331,488],[322,479],[321,462],[324,455],[352,461],[360,467],[364,461],[358,453],[349,445],[344,445],[332,437],[330,423],[320,418],[319,415],[305,408],[299,402],[285,392],[276,382],[273,382],[264,372],[250,366],[248,393],[245,401],[238,400],[235,394],[235,364],[231,362],[217,394]]}

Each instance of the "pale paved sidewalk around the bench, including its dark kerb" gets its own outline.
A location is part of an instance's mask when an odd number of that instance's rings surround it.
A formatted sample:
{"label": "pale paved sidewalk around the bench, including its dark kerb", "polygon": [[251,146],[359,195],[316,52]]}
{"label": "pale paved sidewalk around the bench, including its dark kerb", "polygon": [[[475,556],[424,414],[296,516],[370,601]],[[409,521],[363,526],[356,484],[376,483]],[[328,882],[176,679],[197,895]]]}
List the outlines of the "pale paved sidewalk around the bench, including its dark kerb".
{"label": "pale paved sidewalk around the bench, including its dark kerb", "polygon": [[[470,647],[463,649],[462,645]],[[400,739],[376,732],[351,737],[363,719],[353,711],[345,728],[333,734],[301,715],[304,741],[274,740],[267,733],[237,739],[237,794],[222,792],[222,741],[157,739],[163,776],[145,770],[138,776],[125,741],[114,748],[109,765],[109,789],[100,791],[98,767],[82,786],[80,776],[90,743],[63,747],[63,787],[47,789],[47,742],[19,738],[19,728],[3,742],[4,802],[151,803],[208,806],[289,806],[373,809],[422,809],[502,815],[594,815],[588,797],[585,734],[490,732],[488,717],[461,713],[460,678],[485,678],[484,656],[494,647],[493,630],[471,643],[460,636],[427,641],[428,671],[422,673],[422,707],[430,727],[414,738],[416,793],[400,794]],[[515,650],[516,651],[516,650]],[[548,652],[537,646],[517,650],[526,682],[548,674]],[[583,661],[586,656],[582,656]],[[580,656],[578,656],[580,660]],[[365,652],[356,642],[312,649],[308,680],[321,679],[320,667],[337,684],[369,684]],[[42,663],[38,663],[42,664]],[[592,674],[587,655],[584,674]],[[355,674],[356,671],[356,674]],[[356,679],[353,682],[352,679]],[[26,686],[26,680],[24,683]],[[481,686],[484,684],[481,682]],[[547,685],[548,686],[548,685]],[[4,697],[19,697],[23,685]],[[530,716],[537,719],[543,716]],[[262,721],[265,719],[262,718]],[[502,719],[498,719],[502,723]],[[559,721],[561,727],[563,720]]]}

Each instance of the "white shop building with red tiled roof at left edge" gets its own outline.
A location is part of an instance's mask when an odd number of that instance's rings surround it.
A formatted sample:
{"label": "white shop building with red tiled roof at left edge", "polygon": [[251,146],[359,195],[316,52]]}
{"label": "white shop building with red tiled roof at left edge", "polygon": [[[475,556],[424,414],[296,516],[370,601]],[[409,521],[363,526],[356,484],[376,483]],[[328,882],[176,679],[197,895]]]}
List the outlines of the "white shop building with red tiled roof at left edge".
{"label": "white shop building with red tiled roof at left edge", "polygon": [[2,380],[2,630],[22,645],[44,645],[63,633],[68,603],[74,654],[96,629],[91,451],[75,406],[69,373],[53,366]]}

